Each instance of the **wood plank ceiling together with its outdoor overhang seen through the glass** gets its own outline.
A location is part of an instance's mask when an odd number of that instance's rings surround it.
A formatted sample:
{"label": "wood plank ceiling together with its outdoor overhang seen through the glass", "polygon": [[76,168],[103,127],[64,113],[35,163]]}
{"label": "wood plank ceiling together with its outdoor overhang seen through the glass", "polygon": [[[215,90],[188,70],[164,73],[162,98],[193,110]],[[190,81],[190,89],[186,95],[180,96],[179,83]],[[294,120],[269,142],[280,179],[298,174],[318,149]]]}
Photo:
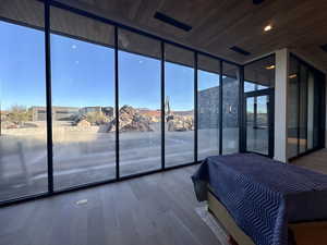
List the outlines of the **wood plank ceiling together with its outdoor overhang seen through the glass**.
{"label": "wood plank ceiling together with its outdoor overhang seen through the glass", "polygon": [[[122,24],[144,29],[225,59],[244,63],[280,48],[290,48],[327,71],[327,0],[58,0]],[[32,0],[2,0],[0,16],[32,26],[44,26],[43,8]],[[154,19],[159,11],[193,28],[184,32]],[[272,30],[265,33],[266,25]],[[102,23],[51,9],[51,29],[69,36],[112,46],[113,28]],[[128,32],[120,48],[159,57],[152,40]],[[141,44],[142,42],[142,44]],[[238,46],[251,52],[230,50]],[[175,54],[175,57],[179,57]],[[180,56],[182,58],[182,56]],[[183,61],[191,62],[190,59]]]}

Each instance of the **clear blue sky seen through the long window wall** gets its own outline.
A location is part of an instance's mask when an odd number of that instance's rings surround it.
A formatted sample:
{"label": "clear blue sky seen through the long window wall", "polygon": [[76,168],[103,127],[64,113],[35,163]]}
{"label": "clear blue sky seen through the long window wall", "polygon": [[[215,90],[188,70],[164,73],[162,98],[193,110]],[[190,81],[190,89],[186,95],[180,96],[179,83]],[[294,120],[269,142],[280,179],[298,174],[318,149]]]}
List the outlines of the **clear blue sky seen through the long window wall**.
{"label": "clear blue sky seen through the long window wall", "polygon": [[[44,34],[0,22],[1,109],[45,106]],[[172,110],[193,109],[193,69],[166,63],[166,96]],[[113,106],[113,50],[51,35],[52,105]],[[120,106],[160,108],[160,62],[119,51]],[[217,74],[199,71],[198,87],[217,86]]]}

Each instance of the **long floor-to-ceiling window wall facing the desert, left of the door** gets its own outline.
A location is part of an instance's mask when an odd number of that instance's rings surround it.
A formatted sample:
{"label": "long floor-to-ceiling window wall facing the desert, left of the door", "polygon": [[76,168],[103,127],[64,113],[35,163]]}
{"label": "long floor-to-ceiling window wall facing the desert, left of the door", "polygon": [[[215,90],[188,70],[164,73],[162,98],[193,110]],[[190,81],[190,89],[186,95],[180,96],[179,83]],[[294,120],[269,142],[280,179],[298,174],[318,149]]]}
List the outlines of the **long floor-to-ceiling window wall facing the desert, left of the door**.
{"label": "long floor-to-ceiling window wall facing the desert, left of the door", "polygon": [[1,204],[238,151],[238,65],[64,3],[0,17]]}

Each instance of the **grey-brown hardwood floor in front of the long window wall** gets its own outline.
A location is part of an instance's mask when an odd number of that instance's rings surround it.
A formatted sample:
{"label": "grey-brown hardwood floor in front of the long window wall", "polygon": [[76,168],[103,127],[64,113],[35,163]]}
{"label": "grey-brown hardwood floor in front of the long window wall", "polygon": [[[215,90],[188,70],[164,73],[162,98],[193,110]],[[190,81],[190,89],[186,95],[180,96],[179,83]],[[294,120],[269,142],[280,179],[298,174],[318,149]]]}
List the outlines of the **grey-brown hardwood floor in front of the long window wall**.
{"label": "grey-brown hardwood floor in front of the long window wall", "polygon": [[2,208],[0,244],[219,245],[194,210],[202,206],[190,179],[196,168]]}

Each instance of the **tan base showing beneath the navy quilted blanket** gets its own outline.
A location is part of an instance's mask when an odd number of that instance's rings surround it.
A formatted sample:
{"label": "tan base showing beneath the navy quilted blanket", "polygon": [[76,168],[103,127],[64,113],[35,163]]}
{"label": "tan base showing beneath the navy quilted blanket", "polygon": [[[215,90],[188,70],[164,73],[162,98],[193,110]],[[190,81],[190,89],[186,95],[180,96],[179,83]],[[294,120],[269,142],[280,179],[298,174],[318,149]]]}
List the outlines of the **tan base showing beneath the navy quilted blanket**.
{"label": "tan base showing beneath the navy quilted blanket", "polygon": [[[231,245],[256,245],[230,216],[225,206],[208,192],[208,209],[231,236]],[[290,245],[327,245],[327,221],[289,224]]]}

